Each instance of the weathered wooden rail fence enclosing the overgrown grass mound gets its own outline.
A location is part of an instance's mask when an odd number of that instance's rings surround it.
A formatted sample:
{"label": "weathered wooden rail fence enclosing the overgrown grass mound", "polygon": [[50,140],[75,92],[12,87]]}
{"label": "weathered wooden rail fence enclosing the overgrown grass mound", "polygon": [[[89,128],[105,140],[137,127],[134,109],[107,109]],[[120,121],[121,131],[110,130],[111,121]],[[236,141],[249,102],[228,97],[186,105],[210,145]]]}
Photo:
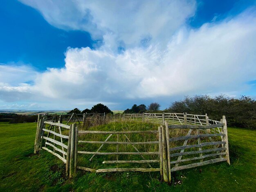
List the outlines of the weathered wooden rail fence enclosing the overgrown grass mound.
{"label": "weathered wooden rail fence enclosing the overgrown grass mound", "polygon": [[[74,116],[74,114],[73,114]],[[83,116],[84,117],[84,116]],[[114,118],[113,118],[114,117]],[[72,117],[73,118],[73,117]],[[72,119],[72,118],[69,118]],[[38,126],[35,140],[35,153],[44,149],[66,163],[66,171],[69,176],[73,176],[76,169],[91,172],[120,172],[120,171],[141,171],[152,172],[159,171],[164,181],[171,182],[171,172],[184,170],[191,167],[227,161],[229,164],[229,147],[227,135],[227,122],[225,116],[221,121],[210,120],[206,115],[193,114],[125,114],[123,116],[101,116],[103,119],[112,118],[120,120],[139,120],[145,122],[158,123],[158,130],[150,131],[92,131],[78,130],[76,124],[65,125],[60,121],[58,123],[47,121],[47,116],[38,115]],[[68,120],[68,121],[69,121]],[[56,120],[53,120],[56,121]],[[70,120],[71,121],[71,120]],[[85,122],[85,121],[83,121]],[[186,131],[187,130],[187,131]],[[183,133],[183,136],[173,137],[173,133]],[[47,136],[45,135],[47,134]],[[135,142],[133,137],[139,135],[155,134],[153,141]],[[108,135],[102,141],[89,141],[83,139],[83,135]],[[129,136],[130,135],[130,136]],[[102,138],[102,137],[98,137]],[[110,141],[112,138],[112,141]],[[116,140],[113,141],[113,138]],[[125,141],[122,141],[122,139]],[[42,147],[43,143],[45,147]],[[81,147],[87,144],[87,147]],[[91,145],[101,144],[97,150],[92,151]],[[104,145],[116,145],[115,152],[104,151]],[[120,145],[132,146],[136,152],[119,150]],[[145,150],[139,150],[138,146]],[[150,145],[157,145],[149,150]],[[141,148],[141,149],[142,149]],[[115,156],[115,160],[103,161],[103,164],[116,164],[115,168],[95,169],[79,164],[77,156],[83,156],[86,162],[92,161],[97,156]],[[139,155],[141,160],[125,159],[125,156]],[[145,158],[144,156],[154,156],[154,158]],[[90,159],[89,159],[90,156]],[[122,156],[122,160],[120,160]],[[88,159],[87,159],[88,158]],[[128,167],[119,168],[118,165],[126,163],[146,164],[148,167]],[[154,166],[152,166],[154,164]]]}

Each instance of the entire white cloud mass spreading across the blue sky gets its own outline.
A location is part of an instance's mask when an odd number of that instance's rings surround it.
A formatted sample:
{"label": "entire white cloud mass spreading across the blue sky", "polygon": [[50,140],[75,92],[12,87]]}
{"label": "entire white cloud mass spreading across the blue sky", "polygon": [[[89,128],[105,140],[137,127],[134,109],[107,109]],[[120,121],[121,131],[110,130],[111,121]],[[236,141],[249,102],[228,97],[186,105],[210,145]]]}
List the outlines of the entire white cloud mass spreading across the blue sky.
{"label": "entire white cloud mass spreading across the blue sky", "polygon": [[[38,9],[52,25],[89,31],[105,44],[98,49],[68,48],[65,67],[37,73],[34,85],[13,85],[26,74],[15,82],[2,80],[1,99],[8,98],[7,93],[29,93],[42,102],[65,101],[67,106],[117,106],[121,100],[239,94],[256,77],[255,9],[190,29],[185,21],[195,11],[193,1],[128,1],[122,2],[128,7],[124,11],[120,1],[111,6],[76,1],[70,10],[60,8],[58,1],[51,1],[51,7],[44,1],[22,2]],[[126,47],[117,54],[119,42]]]}

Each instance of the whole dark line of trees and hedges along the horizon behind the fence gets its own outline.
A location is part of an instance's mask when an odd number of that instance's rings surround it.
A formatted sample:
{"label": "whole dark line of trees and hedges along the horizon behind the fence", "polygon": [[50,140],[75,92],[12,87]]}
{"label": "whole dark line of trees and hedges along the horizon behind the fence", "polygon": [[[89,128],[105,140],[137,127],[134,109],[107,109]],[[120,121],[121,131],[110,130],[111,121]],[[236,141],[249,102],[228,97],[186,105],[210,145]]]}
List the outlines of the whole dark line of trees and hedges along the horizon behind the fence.
{"label": "whole dark line of trees and hedges along the horizon behind the fence", "polygon": [[[232,98],[225,95],[211,97],[207,95],[185,96],[182,100],[171,103],[163,111],[159,110],[159,103],[150,103],[146,107],[144,104],[134,104],[124,113],[188,113],[188,114],[207,114],[210,119],[219,120],[222,115],[227,118],[229,126],[246,127],[256,129],[256,100],[249,96],[241,96],[240,98]],[[113,112],[102,103],[94,105],[91,109],[84,109],[80,111],[78,108],[72,109],[69,114],[83,114],[83,113],[106,113],[113,114]],[[18,115],[10,113],[0,113],[0,121],[9,121],[10,123],[35,122],[36,115]]]}

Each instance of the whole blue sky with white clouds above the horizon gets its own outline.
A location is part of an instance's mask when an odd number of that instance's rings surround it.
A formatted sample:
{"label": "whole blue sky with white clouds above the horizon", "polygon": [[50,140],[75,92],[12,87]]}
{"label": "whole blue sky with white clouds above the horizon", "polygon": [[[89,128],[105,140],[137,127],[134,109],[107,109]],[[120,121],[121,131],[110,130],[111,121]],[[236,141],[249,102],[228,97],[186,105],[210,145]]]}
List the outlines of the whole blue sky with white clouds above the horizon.
{"label": "whole blue sky with white clouds above the horizon", "polygon": [[0,109],[256,98],[256,0],[0,4]]}

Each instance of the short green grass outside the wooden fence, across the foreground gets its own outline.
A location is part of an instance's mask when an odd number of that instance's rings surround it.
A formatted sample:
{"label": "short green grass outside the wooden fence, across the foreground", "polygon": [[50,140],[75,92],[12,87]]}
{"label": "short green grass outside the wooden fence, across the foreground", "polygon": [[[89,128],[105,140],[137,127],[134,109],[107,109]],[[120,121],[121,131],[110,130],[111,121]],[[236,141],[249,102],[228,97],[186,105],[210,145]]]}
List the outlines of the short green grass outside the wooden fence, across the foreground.
{"label": "short green grass outside the wooden fence, across the foreground", "polygon": [[256,131],[228,128],[231,165],[226,162],[172,173],[90,173],[65,176],[65,165],[42,151],[34,155],[36,123],[0,123],[0,191],[255,191]]}

